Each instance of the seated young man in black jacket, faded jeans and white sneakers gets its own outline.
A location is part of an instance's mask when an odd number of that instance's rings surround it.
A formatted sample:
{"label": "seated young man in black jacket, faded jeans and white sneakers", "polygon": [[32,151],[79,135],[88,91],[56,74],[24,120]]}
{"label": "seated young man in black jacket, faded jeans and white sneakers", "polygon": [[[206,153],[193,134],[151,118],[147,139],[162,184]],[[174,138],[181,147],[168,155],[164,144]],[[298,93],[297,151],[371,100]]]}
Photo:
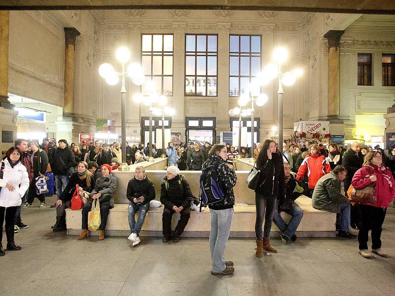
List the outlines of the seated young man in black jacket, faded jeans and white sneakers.
{"label": "seated young man in black jacket, faded jeans and white sneakers", "polygon": [[[155,199],[154,183],[145,174],[145,168],[138,166],[135,170],[136,174],[127,185],[126,197],[130,201],[127,208],[129,216],[130,235],[129,240],[135,246],[140,243],[139,233],[143,226],[145,216],[150,209],[150,201]],[[135,214],[139,212],[137,222]]]}

